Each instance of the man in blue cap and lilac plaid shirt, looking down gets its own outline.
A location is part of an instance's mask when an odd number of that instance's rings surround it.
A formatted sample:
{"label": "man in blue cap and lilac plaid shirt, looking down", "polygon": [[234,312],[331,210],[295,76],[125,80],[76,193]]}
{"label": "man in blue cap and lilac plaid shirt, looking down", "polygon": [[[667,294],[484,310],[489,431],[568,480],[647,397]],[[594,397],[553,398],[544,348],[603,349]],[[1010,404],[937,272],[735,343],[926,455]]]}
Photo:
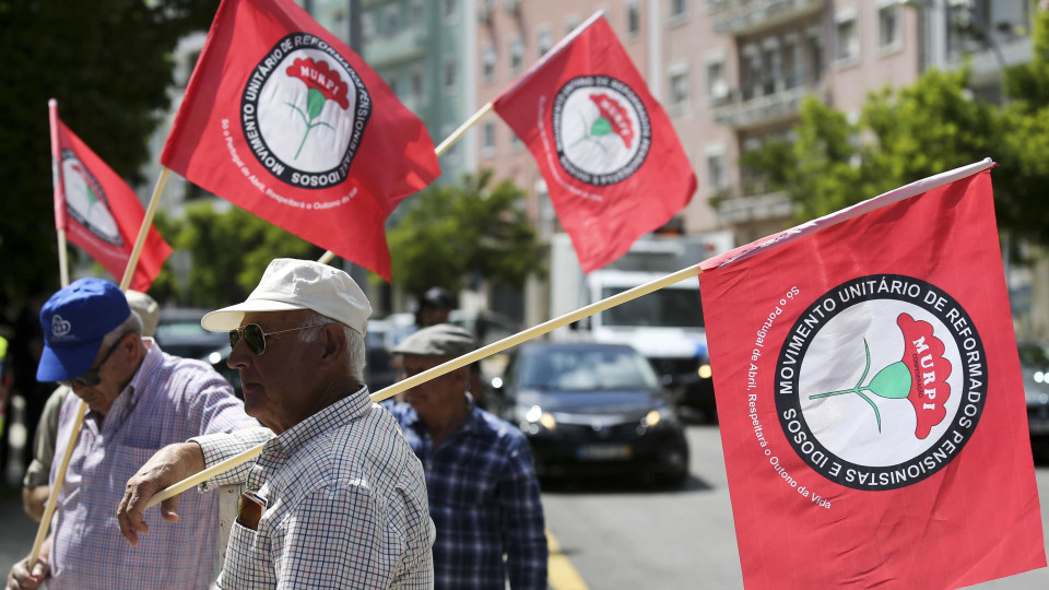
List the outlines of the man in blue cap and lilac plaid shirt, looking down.
{"label": "man in blue cap and lilac plaid shirt, looking down", "polygon": [[[51,534],[32,573],[16,564],[8,588],[208,588],[219,536],[217,498],[187,497],[173,527],[148,517],[151,533],[129,551],[113,507],[125,482],[161,447],[191,436],[256,425],[210,365],[170,356],[150,338],[123,293],[107,281],[81,279],[40,311],[39,381],[72,389],[59,417],[56,457],[66,451],[81,400],[87,404]],[[54,486],[57,468],[51,470]]]}

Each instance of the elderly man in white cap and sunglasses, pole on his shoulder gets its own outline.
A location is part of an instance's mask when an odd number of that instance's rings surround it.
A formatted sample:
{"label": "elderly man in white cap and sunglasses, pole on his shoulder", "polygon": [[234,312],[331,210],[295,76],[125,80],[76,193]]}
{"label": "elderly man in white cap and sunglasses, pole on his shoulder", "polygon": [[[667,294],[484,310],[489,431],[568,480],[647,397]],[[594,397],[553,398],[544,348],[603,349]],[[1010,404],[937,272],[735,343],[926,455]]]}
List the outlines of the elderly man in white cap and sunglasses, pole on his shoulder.
{"label": "elderly man in white cap and sunglasses, pole on his shoulder", "polygon": [[[128,481],[120,531],[134,545],[160,489],[262,441],[244,483],[220,588],[432,588],[426,482],[393,417],[363,385],[372,307],[345,272],[276,259],[243,304],[201,324],[229,331],[245,411],[269,428],[172,445]],[[274,436],[275,434],[275,436]],[[174,514],[175,500],[162,504]]]}

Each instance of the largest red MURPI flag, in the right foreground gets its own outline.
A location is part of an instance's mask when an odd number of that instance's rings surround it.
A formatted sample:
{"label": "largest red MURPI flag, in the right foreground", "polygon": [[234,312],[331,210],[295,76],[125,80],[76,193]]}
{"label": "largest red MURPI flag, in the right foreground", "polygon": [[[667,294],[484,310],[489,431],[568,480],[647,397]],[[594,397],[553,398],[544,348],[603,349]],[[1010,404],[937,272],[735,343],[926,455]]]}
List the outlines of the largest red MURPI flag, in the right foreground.
{"label": "largest red MURPI flag, in the right foreground", "polygon": [[705,263],[747,588],[1044,567],[990,161]]}

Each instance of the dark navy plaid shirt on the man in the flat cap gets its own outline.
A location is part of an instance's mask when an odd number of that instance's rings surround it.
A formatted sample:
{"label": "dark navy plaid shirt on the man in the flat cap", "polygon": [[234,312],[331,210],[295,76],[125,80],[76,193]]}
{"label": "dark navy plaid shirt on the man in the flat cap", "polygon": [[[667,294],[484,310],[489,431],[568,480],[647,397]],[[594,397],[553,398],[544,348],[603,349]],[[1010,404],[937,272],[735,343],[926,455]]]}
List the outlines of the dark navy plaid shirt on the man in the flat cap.
{"label": "dark navy plaid shirt on the man in the flat cap", "polygon": [[546,536],[531,447],[511,424],[469,397],[468,403],[467,422],[437,449],[411,405],[384,404],[426,468],[436,588],[504,590],[508,578],[514,590],[545,589]]}

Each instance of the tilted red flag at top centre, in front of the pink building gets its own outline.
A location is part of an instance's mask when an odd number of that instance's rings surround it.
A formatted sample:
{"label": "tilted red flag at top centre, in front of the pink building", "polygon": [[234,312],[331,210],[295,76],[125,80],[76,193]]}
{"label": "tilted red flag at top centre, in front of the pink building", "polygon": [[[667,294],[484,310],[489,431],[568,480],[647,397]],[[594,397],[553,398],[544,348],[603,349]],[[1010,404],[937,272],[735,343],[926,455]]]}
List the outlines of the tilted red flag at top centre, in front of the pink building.
{"label": "tilted red flag at top centre, in front of the pink building", "polygon": [[626,253],[696,191],[670,119],[600,14],[493,106],[535,157],[586,272]]}

